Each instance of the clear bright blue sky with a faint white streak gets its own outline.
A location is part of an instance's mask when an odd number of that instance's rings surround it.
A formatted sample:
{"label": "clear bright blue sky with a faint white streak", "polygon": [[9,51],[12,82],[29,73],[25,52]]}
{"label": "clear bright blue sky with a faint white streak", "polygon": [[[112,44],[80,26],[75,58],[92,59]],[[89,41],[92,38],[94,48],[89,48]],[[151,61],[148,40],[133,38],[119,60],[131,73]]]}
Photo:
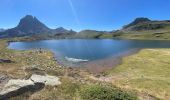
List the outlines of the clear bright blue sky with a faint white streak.
{"label": "clear bright blue sky with a faint white streak", "polygon": [[0,0],[0,28],[15,27],[25,15],[50,28],[110,31],[137,17],[170,19],[170,0]]}

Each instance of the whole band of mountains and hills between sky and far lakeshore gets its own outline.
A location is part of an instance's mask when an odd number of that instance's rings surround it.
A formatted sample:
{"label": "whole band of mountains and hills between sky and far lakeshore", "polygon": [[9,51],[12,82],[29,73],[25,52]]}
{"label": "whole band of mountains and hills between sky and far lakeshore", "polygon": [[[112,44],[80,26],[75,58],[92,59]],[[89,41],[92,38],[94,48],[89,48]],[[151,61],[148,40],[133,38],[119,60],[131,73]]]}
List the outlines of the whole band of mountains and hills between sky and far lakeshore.
{"label": "whole band of mountains and hills between sky and far lakeshore", "polygon": [[[0,38],[8,37],[35,37],[35,39],[51,39],[51,38],[125,38],[132,34],[133,38],[140,34],[141,36],[150,35],[149,37],[166,36],[170,32],[170,20],[150,20],[145,17],[136,18],[131,23],[122,27],[117,31],[97,31],[97,30],[82,30],[76,32],[67,30],[63,27],[50,29],[45,24],[40,22],[36,17],[26,15],[19,24],[5,31],[0,32]],[[158,36],[159,33],[159,36]],[[154,34],[154,35],[152,35]],[[155,35],[156,34],[156,35]]]}

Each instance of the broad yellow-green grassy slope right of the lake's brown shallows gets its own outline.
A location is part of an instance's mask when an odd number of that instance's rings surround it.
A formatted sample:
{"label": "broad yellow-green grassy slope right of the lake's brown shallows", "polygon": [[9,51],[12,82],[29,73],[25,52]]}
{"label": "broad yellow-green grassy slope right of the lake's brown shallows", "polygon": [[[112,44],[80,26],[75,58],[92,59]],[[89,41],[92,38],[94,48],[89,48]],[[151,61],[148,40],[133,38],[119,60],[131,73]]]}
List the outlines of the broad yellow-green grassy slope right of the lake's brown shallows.
{"label": "broad yellow-green grassy slope right of the lake's brown shallows", "polygon": [[126,57],[110,72],[118,87],[170,100],[170,49],[145,49]]}

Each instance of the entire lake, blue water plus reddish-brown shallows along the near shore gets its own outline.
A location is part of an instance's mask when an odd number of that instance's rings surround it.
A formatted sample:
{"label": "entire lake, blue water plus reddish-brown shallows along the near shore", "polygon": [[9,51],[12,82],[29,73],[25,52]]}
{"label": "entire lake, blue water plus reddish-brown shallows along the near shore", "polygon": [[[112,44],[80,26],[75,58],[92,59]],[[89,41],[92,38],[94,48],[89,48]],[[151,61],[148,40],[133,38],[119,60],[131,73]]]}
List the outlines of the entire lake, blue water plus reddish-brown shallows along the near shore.
{"label": "entire lake, blue water plus reddish-brown shallows along the near shore", "polygon": [[[17,39],[14,39],[14,43],[11,43],[8,48],[14,50],[36,49],[38,51],[42,49],[37,48],[44,48],[53,53],[54,59],[60,66],[88,70],[93,74],[107,72],[120,65],[122,58],[133,55],[141,49],[170,47],[169,41],[149,40],[64,39],[24,42],[24,39],[21,39],[22,42],[16,43],[15,40]],[[45,46],[43,47],[41,44]]]}

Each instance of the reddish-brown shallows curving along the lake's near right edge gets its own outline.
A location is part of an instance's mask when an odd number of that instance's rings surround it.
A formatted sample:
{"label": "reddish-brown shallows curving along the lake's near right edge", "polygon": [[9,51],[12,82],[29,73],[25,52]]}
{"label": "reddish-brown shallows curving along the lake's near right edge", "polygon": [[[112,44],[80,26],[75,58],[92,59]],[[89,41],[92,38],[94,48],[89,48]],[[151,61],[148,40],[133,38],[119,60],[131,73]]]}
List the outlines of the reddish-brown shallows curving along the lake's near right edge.
{"label": "reddish-brown shallows curving along the lake's near right edge", "polygon": [[122,59],[124,57],[136,54],[139,51],[140,49],[131,49],[117,56],[111,56],[105,59],[82,63],[80,64],[80,69],[88,70],[89,72],[93,74],[105,73],[113,69],[114,67],[117,67],[118,65],[122,64]]}

